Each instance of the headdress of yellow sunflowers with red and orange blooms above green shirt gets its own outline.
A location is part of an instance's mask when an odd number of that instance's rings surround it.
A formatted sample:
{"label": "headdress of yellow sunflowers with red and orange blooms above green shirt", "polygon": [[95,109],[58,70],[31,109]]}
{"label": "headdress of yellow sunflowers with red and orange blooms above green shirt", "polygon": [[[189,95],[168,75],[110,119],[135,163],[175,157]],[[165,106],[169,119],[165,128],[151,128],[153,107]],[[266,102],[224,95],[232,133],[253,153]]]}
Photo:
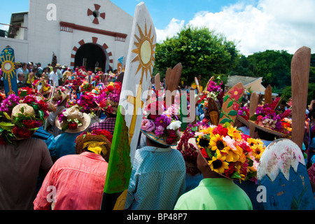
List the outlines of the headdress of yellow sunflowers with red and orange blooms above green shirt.
{"label": "headdress of yellow sunflowers with red and orange blooms above green shirt", "polygon": [[[197,124],[191,130],[212,171],[230,179],[255,181],[259,155],[265,150],[262,141],[255,139],[254,142],[230,123],[223,126]],[[259,152],[253,151],[257,144],[261,146]]]}

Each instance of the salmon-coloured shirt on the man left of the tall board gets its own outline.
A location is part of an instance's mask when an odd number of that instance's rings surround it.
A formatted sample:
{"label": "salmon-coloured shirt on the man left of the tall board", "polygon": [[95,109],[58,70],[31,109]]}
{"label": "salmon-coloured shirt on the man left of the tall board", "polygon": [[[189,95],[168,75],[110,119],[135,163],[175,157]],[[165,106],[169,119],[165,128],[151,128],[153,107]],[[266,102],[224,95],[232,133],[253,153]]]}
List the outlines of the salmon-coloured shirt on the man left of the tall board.
{"label": "salmon-coloured shirt on the man left of the tall board", "polygon": [[94,153],[59,158],[43,181],[34,209],[50,209],[55,198],[55,210],[99,210],[107,167],[104,158]]}

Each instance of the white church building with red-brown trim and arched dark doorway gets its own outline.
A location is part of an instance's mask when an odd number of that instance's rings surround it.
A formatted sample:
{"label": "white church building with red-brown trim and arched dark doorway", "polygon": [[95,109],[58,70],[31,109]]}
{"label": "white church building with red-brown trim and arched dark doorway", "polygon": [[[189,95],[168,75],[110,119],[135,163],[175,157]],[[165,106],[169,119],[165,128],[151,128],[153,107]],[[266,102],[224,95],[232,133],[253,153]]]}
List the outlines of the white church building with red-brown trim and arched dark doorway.
{"label": "white church building with red-brown trim and arched dark doorway", "polygon": [[0,37],[0,51],[10,45],[16,62],[42,67],[55,53],[58,64],[72,68],[118,69],[118,59],[127,57],[132,22],[109,0],[29,0],[29,12],[12,14],[12,38]]}

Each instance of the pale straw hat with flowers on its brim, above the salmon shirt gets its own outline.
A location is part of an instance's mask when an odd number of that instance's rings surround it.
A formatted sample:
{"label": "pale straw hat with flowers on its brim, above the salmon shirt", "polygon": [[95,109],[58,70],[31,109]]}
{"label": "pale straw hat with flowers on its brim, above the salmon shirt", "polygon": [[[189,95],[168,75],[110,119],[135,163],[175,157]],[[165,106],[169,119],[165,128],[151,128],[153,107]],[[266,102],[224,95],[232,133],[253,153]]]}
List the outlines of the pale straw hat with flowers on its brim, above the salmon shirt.
{"label": "pale straw hat with flowers on its brim, above the salmon shirt", "polygon": [[[59,121],[59,117],[62,116]],[[71,120],[69,122],[69,120]],[[77,127],[75,129],[70,128],[70,123],[77,123]],[[71,106],[69,109],[63,111],[59,116],[57,116],[55,120],[56,127],[59,130],[69,133],[78,133],[83,132],[89,127],[91,122],[91,118],[87,113],[81,113],[78,109],[78,106]]]}

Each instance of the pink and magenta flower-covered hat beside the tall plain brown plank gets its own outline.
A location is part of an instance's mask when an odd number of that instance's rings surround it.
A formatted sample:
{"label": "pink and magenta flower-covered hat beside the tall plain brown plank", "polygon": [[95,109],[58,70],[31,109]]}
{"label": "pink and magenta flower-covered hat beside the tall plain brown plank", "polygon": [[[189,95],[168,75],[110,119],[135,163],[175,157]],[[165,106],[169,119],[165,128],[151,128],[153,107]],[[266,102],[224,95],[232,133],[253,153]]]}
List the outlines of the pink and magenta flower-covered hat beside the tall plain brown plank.
{"label": "pink and magenta flower-covered hat beside the tall plain brown plank", "polygon": [[291,109],[287,109],[283,113],[276,111],[280,97],[276,97],[271,104],[259,105],[255,114],[251,116],[250,122],[266,132],[281,136],[288,137],[290,135],[290,123],[288,122],[288,116],[291,113]]}

